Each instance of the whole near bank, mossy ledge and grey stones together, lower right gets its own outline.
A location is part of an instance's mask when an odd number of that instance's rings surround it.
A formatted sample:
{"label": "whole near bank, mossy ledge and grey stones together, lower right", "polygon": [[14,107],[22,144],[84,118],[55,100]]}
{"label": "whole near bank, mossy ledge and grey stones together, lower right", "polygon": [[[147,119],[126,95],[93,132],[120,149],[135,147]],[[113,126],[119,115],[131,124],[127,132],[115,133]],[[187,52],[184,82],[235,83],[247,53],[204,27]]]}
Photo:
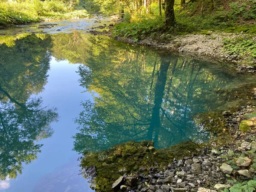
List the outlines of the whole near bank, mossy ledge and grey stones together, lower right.
{"label": "whole near bank, mossy ledge and grey stones together, lower right", "polygon": [[[224,145],[216,140],[202,145],[184,142],[159,150],[151,142],[122,144],[105,153],[100,152],[101,155],[96,157],[105,158],[105,164],[87,167],[85,174],[93,178],[92,188],[100,192],[111,191],[107,185],[112,185],[115,191],[134,192],[240,192],[249,188],[253,191],[256,187],[256,106],[242,107],[234,113],[225,111],[223,120],[223,135],[225,132],[228,135],[221,139],[226,141]],[[140,163],[127,169],[129,158],[135,157]],[[88,154],[82,165],[87,161],[95,163],[93,158]],[[124,165],[119,175],[125,174],[112,182],[106,180],[108,158]],[[154,165],[150,166],[153,162]],[[109,166],[114,170],[115,163]],[[114,175],[118,173],[113,173],[112,179]]]}

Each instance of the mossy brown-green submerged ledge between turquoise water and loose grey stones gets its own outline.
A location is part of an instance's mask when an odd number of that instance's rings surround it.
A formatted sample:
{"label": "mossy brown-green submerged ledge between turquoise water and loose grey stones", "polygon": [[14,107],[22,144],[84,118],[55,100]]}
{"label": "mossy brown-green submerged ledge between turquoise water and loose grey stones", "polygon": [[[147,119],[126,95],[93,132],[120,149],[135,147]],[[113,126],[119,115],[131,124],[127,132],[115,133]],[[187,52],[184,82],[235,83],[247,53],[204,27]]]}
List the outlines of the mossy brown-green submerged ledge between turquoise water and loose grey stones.
{"label": "mossy brown-green submerged ledge between turquoise water and loose grey stones", "polygon": [[[88,166],[96,166],[97,176],[91,182],[96,191],[109,192],[113,182],[125,173],[140,172],[148,175],[148,168],[167,166],[173,157],[190,156],[199,145],[186,141],[165,149],[150,148],[154,143],[151,141],[134,142],[130,141],[109,148],[106,151],[88,152],[81,158],[81,173]],[[143,168],[143,169],[140,169]]]}

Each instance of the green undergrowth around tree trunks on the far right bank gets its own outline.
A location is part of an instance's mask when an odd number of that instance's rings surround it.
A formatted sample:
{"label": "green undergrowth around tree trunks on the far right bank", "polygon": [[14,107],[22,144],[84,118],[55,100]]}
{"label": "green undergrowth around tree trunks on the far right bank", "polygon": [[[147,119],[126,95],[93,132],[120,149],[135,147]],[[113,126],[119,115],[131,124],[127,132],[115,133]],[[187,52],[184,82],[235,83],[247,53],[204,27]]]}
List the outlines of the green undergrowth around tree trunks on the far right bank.
{"label": "green undergrowth around tree trunks on the far right bank", "polygon": [[152,3],[149,15],[133,13],[129,16],[131,19],[114,28],[114,35],[133,37],[137,41],[145,35],[160,37],[163,33],[183,35],[209,30],[256,34],[256,26],[250,25],[250,21],[256,19],[255,0],[216,0],[213,10],[210,10],[209,0],[205,0],[203,14],[201,0],[190,1],[183,10],[180,10],[179,3],[175,1],[174,27],[165,26],[164,16],[159,16],[157,4]]}

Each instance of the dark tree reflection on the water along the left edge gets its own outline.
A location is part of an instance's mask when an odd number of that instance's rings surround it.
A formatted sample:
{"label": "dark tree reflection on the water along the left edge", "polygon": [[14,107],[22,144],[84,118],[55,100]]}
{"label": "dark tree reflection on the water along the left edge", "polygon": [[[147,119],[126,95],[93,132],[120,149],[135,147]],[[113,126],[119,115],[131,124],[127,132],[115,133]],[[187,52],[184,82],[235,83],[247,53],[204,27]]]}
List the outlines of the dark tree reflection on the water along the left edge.
{"label": "dark tree reflection on the water along the left edge", "polygon": [[41,145],[35,141],[50,137],[50,123],[56,109],[42,107],[40,93],[47,82],[51,39],[35,35],[0,49],[0,179],[16,177],[22,163],[37,158]]}

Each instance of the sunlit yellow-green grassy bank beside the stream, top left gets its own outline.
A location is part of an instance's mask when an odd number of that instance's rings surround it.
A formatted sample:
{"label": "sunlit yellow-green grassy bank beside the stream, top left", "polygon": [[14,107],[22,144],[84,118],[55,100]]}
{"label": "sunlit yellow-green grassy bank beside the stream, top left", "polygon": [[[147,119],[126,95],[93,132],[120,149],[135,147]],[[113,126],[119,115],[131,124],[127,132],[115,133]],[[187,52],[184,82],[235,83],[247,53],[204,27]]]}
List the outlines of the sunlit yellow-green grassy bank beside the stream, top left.
{"label": "sunlit yellow-green grassy bank beside the stream, top left", "polygon": [[35,23],[40,20],[85,18],[85,10],[70,11],[60,0],[0,2],[0,26]]}

